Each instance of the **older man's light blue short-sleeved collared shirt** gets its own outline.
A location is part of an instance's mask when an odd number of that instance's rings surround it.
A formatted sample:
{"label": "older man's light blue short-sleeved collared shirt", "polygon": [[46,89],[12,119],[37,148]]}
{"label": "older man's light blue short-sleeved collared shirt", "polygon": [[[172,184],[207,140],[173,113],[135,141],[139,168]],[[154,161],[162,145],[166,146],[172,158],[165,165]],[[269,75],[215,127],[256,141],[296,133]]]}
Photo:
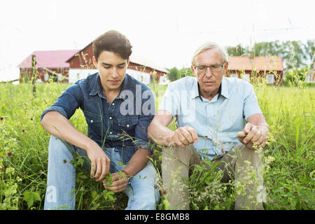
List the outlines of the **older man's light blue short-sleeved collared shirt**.
{"label": "older man's light blue short-sleeved collared shirt", "polygon": [[239,143],[237,132],[243,130],[244,119],[262,113],[253,85],[226,77],[211,101],[200,96],[195,77],[169,83],[159,110],[172,113],[177,127],[193,127],[198,135],[194,146],[202,158],[209,160],[222,157]]}

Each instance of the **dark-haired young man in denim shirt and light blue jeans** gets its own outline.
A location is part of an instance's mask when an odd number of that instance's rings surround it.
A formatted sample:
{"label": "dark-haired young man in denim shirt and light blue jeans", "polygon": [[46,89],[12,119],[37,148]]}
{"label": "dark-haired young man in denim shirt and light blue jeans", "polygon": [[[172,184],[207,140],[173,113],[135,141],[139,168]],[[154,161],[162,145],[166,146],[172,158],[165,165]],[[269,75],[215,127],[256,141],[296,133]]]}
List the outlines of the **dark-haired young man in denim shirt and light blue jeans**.
{"label": "dark-haired young man in denim shirt and light blue jeans", "polygon": [[[126,74],[132,45],[123,34],[106,32],[94,40],[93,51],[99,72],[71,85],[41,116],[52,134],[44,209],[75,209],[73,154],[85,158],[84,167],[95,181],[128,195],[127,209],[155,209],[160,195],[154,188],[157,173],[148,162],[152,152],[146,134],[155,113],[153,92]],[[69,122],[78,108],[88,136]],[[109,173],[111,185],[105,179]]]}

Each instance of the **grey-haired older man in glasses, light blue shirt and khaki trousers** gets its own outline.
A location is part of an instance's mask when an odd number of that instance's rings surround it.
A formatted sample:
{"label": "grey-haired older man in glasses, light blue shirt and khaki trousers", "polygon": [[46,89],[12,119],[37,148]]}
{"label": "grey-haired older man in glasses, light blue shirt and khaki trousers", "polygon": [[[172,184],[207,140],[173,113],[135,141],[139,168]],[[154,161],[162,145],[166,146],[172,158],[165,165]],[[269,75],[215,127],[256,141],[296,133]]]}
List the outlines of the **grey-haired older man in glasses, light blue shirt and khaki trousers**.
{"label": "grey-haired older man in glasses, light blue shirt and khaki trousers", "polygon": [[[262,160],[257,147],[267,143],[269,127],[258,105],[253,86],[238,78],[223,77],[228,70],[225,50],[213,42],[193,55],[195,77],[169,83],[162,104],[148,127],[148,136],[166,146],[162,153],[162,181],[172,209],[189,209],[189,169],[204,159],[222,161],[222,181],[235,178],[235,209],[263,209],[259,197]],[[177,130],[168,125],[176,118]],[[244,122],[246,120],[246,125]],[[246,181],[255,174],[254,181]],[[172,178],[176,176],[176,181]],[[247,183],[246,183],[247,182]],[[176,184],[177,183],[177,184]]]}

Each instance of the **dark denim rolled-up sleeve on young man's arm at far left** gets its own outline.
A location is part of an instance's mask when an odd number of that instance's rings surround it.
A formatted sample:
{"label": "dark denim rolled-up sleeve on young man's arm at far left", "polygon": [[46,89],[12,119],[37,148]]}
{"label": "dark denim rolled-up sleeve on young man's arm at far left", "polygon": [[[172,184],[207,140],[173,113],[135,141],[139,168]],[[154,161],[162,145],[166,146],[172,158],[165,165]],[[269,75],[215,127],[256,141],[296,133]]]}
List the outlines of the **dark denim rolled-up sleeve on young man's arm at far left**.
{"label": "dark denim rolled-up sleeve on young man's arm at far left", "polygon": [[71,85],[67,88],[57,101],[52,104],[48,109],[45,109],[41,114],[41,120],[43,116],[50,111],[57,111],[62,114],[62,116],[70,119],[73,116],[73,113],[76,112],[76,109],[80,107],[80,104],[83,102],[83,94],[80,90],[78,84]]}

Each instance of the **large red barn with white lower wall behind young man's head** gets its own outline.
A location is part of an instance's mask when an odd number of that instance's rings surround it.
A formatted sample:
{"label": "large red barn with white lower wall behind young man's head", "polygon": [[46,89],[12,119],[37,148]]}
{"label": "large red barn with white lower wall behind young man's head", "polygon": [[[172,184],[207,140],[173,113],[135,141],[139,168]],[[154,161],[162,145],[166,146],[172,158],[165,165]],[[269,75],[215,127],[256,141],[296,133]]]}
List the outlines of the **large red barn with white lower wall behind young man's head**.
{"label": "large red barn with white lower wall behind young man's head", "polygon": [[[97,71],[95,69],[92,57],[93,57],[92,43],[87,45],[85,48],[73,54],[66,62],[69,63],[69,82],[74,83],[80,78],[85,78],[91,73]],[[153,77],[153,72],[156,72],[156,77]],[[148,59],[144,57],[137,57],[135,55],[130,56],[130,64],[127,68],[127,73],[137,80],[145,84],[150,84],[153,82],[153,79],[156,78],[156,81],[159,82],[160,76],[163,76],[168,73],[166,69],[162,69],[159,66],[148,62]]]}

